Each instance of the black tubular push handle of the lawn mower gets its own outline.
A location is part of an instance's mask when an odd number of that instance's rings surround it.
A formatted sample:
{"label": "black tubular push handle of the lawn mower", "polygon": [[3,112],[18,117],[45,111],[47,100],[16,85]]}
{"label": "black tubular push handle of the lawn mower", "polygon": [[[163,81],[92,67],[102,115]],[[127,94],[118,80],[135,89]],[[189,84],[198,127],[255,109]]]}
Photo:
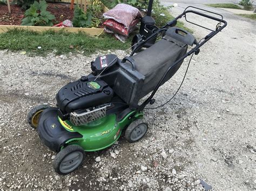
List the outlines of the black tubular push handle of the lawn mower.
{"label": "black tubular push handle of the lawn mower", "polygon": [[[195,13],[197,15],[200,15],[200,16],[203,16],[203,17],[206,17],[206,18],[210,18],[210,19],[213,19],[213,20],[216,20],[218,21],[219,23],[217,24],[216,26],[216,29],[215,31],[211,30],[212,32],[210,32],[209,34],[207,34],[207,36],[205,36],[205,38],[203,38],[202,42],[200,43],[195,43],[196,46],[194,48],[192,48],[189,52],[187,52],[185,55],[181,56],[180,59],[178,59],[176,62],[173,63],[172,66],[170,66],[166,72],[164,73],[164,75],[161,77],[161,80],[158,82],[156,88],[154,88],[154,90],[152,91],[151,95],[141,104],[139,105],[137,111],[142,111],[146,105],[152,100],[153,96],[156,94],[157,90],[159,89],[159,87],[161,86],[161,83],[163,83],[165,77],[167,76],[167,74],[170,72],[170,70],[172,68],[174,68],[179,62],[183,61],[187,56],[193,54],[193,53],[196,53],[198,54],[199,53],[199,48],[201,46],[203,46],[208,40],[210,40],[213,36],[215,36],[217,33],[219,33],[221,30],[223,30],[226,26],[227,26],[227,22],[225,20],[223,20],[223,16],[221,16],[221,19],[220,18],[217,18],[217,17],[212,17],[210,15],[206,15],[204,13],[201,13],[201,12],[198,12],[198,11],[194,11],[194,10],[187,10],[188,8],[194,8],[193,6],[188,6],[185,11],[183,13],[181,13],[181,15],[179,15],[178,17],[176,17],[175,19],[171,20],[170,22],[168,22],[165,26],[161,27],[161,29],[159,29],[158,31],[154,32],[153,34],[151,34],[151,36],[143,41],[140,41],[139,42],[139,45],[136,46],[136,48],[133,49],[132,53],[130,56],[132,56],[136,50],[138,49],[138,47],[142,46],[146,41],[149,41],[151,40],[152,38],[155,38],[157,36],[158,33],[160,32],[163,32],[163,31],[167,31],[166,27],[170,27],[173,23],[177,23],[177,20],[181,17],[183,17],[184,15],[186,15],[186,13],[188,12],[191,12],[191,13]],[[195,8],[195,9],[199,9],[199,8]],[[204,10],[204,9],[199,9],[199,10],[203,10],[203,11],[206,11],[206,12],[211,12],[211,11],[207,11],[207,10]],[[214,13],[214,12],[211,12],[211,13]],[[218,13],[214,13],[216,15],[219,15]],[[221,23],[223,23],[224,25],[221,26]],[[204,27],[205,29],[207,29],[206,27]]]}

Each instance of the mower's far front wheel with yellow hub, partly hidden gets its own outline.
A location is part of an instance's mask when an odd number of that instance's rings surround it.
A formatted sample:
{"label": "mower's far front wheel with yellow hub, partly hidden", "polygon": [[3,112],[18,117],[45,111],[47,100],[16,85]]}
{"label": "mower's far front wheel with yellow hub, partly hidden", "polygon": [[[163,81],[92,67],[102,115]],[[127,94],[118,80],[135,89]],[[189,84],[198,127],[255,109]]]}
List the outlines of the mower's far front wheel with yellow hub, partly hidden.
{"label": "mower's far front wheel with yellow hub, partly hidden", "polygon": [[27,120],[32,128],[34,128],[34,129],[37,128],[39,117],[40,117],[42,111],[47,108],[50,108],[50,106],[46,105],[46,104],[41,104],[41,105],[37,105],[35,108],[33,108],[29,111]]}

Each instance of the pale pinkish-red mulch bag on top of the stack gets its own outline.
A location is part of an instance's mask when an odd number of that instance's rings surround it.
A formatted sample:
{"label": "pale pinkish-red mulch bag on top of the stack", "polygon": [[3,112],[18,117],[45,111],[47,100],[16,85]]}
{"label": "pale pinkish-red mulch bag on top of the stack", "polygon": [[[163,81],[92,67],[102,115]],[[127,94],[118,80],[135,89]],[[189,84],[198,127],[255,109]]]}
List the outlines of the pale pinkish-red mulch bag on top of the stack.
{"label": "pale pinkish-red mulch bag on top of the stack", "polygon": [[117,4],[113,9],[103,14],[105,19],[113,19],[122,23],[126,29],[130,29],[133,20],[142,18],[142,13],[131,5]]}

